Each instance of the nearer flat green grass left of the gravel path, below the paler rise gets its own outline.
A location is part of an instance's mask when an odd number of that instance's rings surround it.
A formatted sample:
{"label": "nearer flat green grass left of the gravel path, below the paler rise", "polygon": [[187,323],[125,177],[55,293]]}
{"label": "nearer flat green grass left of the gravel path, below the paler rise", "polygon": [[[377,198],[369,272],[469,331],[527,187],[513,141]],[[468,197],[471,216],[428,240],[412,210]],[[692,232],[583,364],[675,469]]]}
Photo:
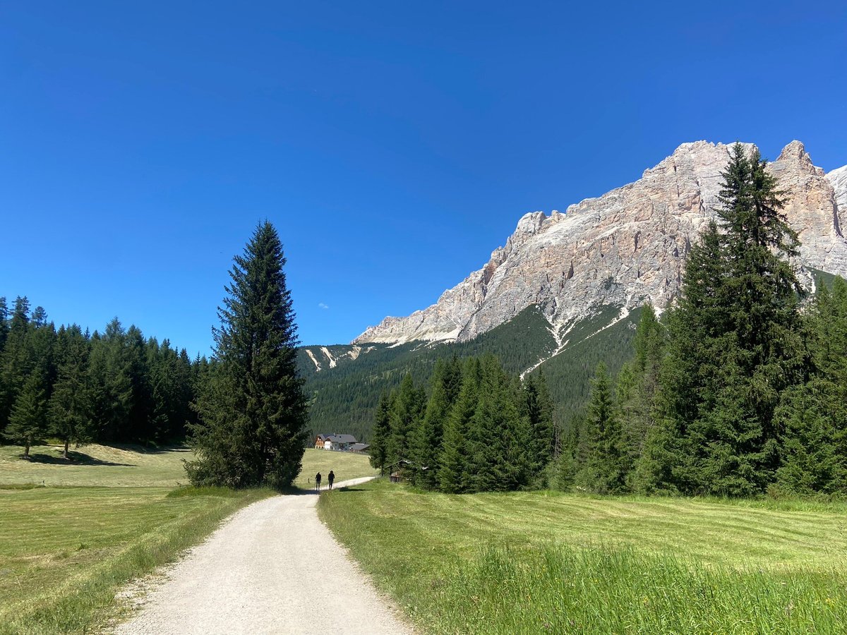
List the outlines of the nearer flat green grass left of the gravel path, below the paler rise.
{"label": "nearer flat green grass left of the gravel path, below the paler rise", "polygon": [[268,494],[0,491],[0,633],[90,631],[119,610],[114,596],[121,585],[174,560],[226,516]]}

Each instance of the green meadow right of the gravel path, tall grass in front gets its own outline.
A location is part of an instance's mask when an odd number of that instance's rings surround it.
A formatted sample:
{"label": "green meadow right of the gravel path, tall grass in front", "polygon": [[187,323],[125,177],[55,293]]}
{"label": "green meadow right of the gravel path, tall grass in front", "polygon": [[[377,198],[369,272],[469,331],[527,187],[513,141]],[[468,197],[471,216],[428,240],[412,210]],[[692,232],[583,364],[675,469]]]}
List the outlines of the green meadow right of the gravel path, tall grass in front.
{"label": "green meadow right of the gravel path, tall grass in front", "polygon": [[380,480],[318,511],[421,632],[847,632],[847,505]]}

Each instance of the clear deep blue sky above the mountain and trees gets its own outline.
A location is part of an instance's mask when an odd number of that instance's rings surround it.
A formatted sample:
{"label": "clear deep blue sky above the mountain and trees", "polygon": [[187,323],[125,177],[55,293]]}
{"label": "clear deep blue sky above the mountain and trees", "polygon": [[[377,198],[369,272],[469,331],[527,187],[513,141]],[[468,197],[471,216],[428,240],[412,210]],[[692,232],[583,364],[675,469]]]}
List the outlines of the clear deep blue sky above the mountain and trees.
{"label": "clear deep blue sky above the mountain and trees", "polygon": [[268,218],[346,342],[684,141],[844,165],[845,65],[843,0],[2,3],[0,295],[205,353]]}

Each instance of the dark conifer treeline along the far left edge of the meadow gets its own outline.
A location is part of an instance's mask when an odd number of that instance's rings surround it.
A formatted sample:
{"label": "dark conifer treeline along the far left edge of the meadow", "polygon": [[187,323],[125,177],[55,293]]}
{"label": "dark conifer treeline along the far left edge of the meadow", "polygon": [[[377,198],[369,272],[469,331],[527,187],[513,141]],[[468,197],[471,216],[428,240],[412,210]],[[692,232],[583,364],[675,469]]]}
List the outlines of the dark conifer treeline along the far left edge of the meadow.
{"label": "dark conifer treeline along the far left edge of the meadow", "polygon": [[102,334],[47,321],[25,297],[11,312],[0,298],[0,439],[25,446],[48,437],[69,444],[169,442],[186,424],[208,362],[169,340],[145,339],[117,318]]}

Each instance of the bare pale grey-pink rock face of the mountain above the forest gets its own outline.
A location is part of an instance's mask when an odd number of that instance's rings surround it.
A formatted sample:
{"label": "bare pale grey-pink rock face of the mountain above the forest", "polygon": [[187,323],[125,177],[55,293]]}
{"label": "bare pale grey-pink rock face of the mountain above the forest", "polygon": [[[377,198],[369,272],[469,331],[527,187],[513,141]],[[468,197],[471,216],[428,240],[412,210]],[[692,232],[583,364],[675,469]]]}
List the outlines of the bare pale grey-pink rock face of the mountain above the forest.
{"label": "bare pale grey-pink rock face of the mountain above the forest", "polygon": [[[526,214],[506,246],[433,306],[386,317],[354,341],[472,340],[532,304],[556,335],[602,305],[664,308],[679,290],[691,245],[716,216],[729,150],[684,143],[634,183],[565,213]],[[847,166],[825,175],[800,141],[770,166],[788,192],[784,211],[802,241],[798,264],[847,275]]]}

